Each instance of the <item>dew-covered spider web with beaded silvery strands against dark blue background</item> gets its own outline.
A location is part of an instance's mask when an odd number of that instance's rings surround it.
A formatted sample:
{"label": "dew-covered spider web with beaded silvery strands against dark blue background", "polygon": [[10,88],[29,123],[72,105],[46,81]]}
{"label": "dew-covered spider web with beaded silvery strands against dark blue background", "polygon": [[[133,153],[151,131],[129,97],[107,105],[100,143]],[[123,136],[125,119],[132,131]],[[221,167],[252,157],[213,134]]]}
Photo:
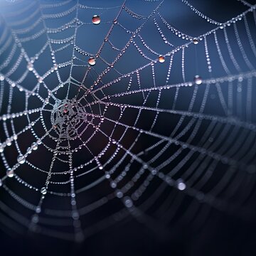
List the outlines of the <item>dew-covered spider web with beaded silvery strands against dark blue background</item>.
{"label": "dew-covered spider web with beaded silvery strands against dark blue background", "polygon": [[1,3],[2,228],[81,241],[129,216],[153,230],[198,227],[210,208],[253,218],[256,5],[220,23],[177,1],[208,26],[195,36],[164,1],[13,2]]}

